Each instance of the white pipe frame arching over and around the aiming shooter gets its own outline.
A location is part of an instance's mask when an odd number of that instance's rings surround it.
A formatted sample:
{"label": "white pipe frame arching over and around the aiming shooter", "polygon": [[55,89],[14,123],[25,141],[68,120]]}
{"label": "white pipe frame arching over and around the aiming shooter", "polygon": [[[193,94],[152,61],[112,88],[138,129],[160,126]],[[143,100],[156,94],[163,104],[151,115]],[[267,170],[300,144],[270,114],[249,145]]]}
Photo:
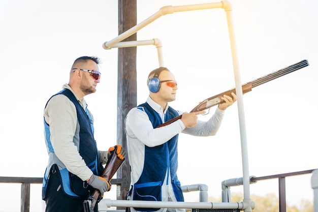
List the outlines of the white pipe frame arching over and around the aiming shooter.
{"label": "white pipe frame arching over and around the aiming shooter", "polygon": [[[248,168],[248,154],[247,154],[247,138],[246,138],[246,128],[245,128],[245,115],[244,115],[244,105],[243,105],[243,94],[242,94],[242,85],[239,72],[239,63],[237,56],[237,48],[235,42],[235,33],[233,26],[232,18],[232,6],[228,1],[221,1],[215,3],[207,4],[195,4],[195,5],[184,5],[184,6],[165,6],[162,7],[158,12],[154,13],[152,16],[142,21],[141,23],[130,28],[128,31],[120,34],[116,38],[107,41],[103,44],[104,49],[111,48],[123,48],[123,47],[132,47],[140,45],[156,45],[158,50],[158,59],[159,65],[163,66],[163,57],[162,57],[162,44],[160,40],[153,39],[147,41],[129,41],[121,42],[125,38],[135,34],[141,28],[150,24],[154,20],[160,18],[161,16],[172,14],[174,12],[184,12],[184,11],[193,11],[193,10],[206,10],[206,9],[216,9],[221,8],[226,12],[228,30],[230,36],[230,44],[232,51],[232,62],[234,69],[234,78],[235,78],[235,88],[237,96],[237,106],[238,106],[238,115],[239,115],[239,126],[240,126],[240,138],[241,138],[241,152],[242,152],[242,167],[243,167],[243,190],[244,190],[244,199],[241,203],[186,203],[186,202],[156,202],[156,207],[175,207],[175,208],[219,208],[219,209],[241,209],[245,212],[251,212],[254,208],[254,203],[250,200],[250,191],[249,191],[249,168]],[[147,207],[147,205],[152,204],[147,201],[128,201],[128,200],[106,200],[108,207],[111,206],[125,206],[125,207],[134,207],[142,206]],[[201,205],[202,204],[202,205]],[[203,205],[204,204],[204,205]],[[151,205],[150,207],[153,207]]]}

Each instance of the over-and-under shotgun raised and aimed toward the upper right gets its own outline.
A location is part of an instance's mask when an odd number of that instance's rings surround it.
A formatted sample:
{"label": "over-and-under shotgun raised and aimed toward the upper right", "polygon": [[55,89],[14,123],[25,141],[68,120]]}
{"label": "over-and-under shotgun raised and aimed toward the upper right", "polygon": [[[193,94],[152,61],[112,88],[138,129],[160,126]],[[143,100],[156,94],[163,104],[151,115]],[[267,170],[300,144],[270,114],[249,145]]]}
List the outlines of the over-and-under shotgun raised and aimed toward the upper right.
{"label": "over-and-under shotgun raised and aimed toward the upper right", "polygon": [[[308,64],[307,59],[304,59],[304,60],[301,60],[301,62],[298,62],[294,65],[288,66],[286,68],[280,69],[278,71],[275,71],[273,73],[270,73],[270,74],[265,75],[263,77],[260,77],[258,79],[247,82],[247,83],[242,85],[242,93],[245,94],[247,92],[250,92],[253,87],[264,84],[265,82],[269,82],[269,81],[276,79],[278,77],[281,77],[285,74],[292,73],[292,72],[299,70],[299,69],[302,69],[306,66],[309,66],[309,64]],[[224,103],[224,100],[222,100],[221,97],[223,97],[224,95],[232,97],[232,95],[231,95],[232,93],[236,94],[235,88],[203,100],[199,105],[197,105],[195,108],[193,108],[190,112],[202,111],[202,110],[208,109],[210,107],[213,107],[215,105]],[[179,115],[175,118],[172,118],[172,119],[168,120],[168,122],[165,122],[164,124],[159,125],[156,128],[170,125],[171,123],[175,122],[176,120],[180,119],[181,117],[182,117],[182,115]]]}

